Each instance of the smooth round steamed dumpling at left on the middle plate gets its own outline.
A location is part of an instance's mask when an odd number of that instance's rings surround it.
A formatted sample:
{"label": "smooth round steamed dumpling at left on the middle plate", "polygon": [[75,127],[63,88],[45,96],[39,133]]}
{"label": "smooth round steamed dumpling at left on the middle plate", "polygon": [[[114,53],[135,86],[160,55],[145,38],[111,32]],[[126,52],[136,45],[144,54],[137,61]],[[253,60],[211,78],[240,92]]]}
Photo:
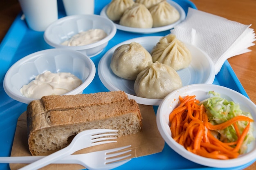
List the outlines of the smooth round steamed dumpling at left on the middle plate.
{"label": "smooth round steamed dumpling at left on the middle plate", "polygon": [[139,72],[152,61],[150,53],[141,44],[131,42],[115,49],[110,68],[118,77],[135,80]]}

